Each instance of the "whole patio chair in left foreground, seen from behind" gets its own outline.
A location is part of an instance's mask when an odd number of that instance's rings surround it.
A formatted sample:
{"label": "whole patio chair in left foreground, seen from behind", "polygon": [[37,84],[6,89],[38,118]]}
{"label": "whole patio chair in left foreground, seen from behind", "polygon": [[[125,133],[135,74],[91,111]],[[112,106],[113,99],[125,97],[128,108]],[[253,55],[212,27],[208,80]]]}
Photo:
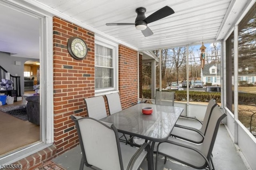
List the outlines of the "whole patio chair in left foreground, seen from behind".
{"label": "whole patio chair in left foreground, seen from behind", "polygon": [[140,148],[131,147],[119,142],[113,124],[74,115],[71,119],[76,124],[82,150],[80,170],[83,170],[84,165],[102,170],[137,170],[145,158],[148,160],[148,169],[152,168],[148,143]]}

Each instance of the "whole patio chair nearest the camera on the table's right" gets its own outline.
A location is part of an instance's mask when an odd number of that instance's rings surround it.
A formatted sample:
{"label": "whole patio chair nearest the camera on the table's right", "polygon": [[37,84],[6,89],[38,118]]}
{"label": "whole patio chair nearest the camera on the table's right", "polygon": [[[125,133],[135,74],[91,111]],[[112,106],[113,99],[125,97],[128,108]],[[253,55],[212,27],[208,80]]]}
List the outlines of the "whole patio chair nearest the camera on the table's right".
{"label": "whole patio chair nearest the camera on the table's right", "polygon": [[[156,151],[156,169],[159,154],[186,164],[196,169],[209,168],[214,170],[212,150],[218,133],[218,128],[226,114],[218,106],[212,109],[212,114],[201,144],[194,144],[186,140],[169,137],[166,142],[159,143]],[[166,160],[165,160],[166,162]]]}

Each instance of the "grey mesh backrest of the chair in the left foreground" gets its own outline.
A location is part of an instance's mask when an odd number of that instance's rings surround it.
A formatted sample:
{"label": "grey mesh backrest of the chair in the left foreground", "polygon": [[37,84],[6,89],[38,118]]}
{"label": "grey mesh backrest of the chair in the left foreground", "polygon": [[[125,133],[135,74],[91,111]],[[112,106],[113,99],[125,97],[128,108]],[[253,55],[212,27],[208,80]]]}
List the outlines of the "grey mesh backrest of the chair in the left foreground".
{"label": "grey mesh backrest of the chair in the left foreground", "polygon": [[86,166],[104,170],[123,170],[118,132],[113,124],[90,117],[71,116],[76,124]]}

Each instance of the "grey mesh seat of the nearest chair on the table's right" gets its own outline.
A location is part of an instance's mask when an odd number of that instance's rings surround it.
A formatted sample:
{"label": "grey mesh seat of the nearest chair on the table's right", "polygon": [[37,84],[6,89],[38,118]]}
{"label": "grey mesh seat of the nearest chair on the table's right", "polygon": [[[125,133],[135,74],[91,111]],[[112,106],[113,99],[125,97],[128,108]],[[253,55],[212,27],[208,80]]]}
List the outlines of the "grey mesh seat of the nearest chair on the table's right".
{"label": "grey mesh seat of the nearest chair on the table's right", "polygon": [[[173,137],[169,137],[168,140],[178,142],[180,144],[186,144],[197,148],[198,150],[201,150],[202,147],[202,144],[196,145]],[[167,142],[161,143],[159,145],[158,151],[161,152],[163,155],[166,154],[169,158],[172,158],[179,162],[182,162],[180,160],[185,160],[186,164],[191,164],[192,166],[204,167],[206,164],[206,161],[200,154],[198,154],[198,152]]]}

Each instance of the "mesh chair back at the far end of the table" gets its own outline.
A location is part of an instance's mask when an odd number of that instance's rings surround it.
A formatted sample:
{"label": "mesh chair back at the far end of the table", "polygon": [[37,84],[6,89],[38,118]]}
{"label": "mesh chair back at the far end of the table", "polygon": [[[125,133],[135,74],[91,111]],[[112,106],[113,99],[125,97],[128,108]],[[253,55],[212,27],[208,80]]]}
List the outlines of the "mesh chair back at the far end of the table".
{"label": "mesh chair back at the far end of the table", "polygon": [[156,91],[156,105],[167,105],[173,106],[174,105],[174,91]]}

